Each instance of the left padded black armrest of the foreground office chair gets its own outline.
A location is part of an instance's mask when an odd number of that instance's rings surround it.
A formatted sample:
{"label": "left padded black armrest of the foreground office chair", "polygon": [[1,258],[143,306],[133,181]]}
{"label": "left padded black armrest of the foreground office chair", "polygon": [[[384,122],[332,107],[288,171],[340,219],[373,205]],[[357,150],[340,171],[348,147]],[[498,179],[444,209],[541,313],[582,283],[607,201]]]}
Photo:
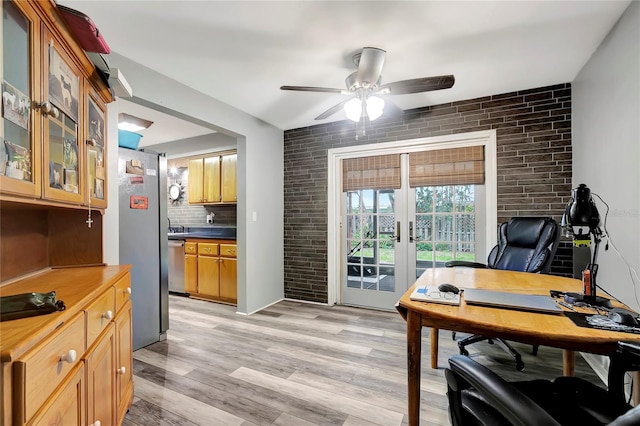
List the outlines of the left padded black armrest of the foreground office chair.
{"label": "left padded black armrest of the foreground office chair", "polygon": [[559,426],[549,413],[528,396],[472,359],[454,355],[451,370],[468,382],[505,419],[518,426]]}

